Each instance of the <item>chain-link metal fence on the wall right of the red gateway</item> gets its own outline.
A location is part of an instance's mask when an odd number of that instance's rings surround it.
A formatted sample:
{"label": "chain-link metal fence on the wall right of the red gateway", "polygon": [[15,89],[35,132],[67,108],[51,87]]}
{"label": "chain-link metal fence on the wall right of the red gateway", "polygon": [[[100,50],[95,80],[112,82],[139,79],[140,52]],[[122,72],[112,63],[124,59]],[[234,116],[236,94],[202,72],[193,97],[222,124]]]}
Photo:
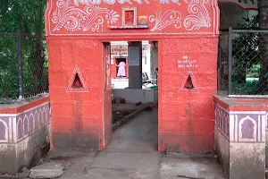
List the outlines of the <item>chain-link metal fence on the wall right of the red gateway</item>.
{"label": "chain-link metal fence on the wall right of the red gateway", "polygon": [[229,96],[268,97],[268,30],[222,31],[218,90]]}

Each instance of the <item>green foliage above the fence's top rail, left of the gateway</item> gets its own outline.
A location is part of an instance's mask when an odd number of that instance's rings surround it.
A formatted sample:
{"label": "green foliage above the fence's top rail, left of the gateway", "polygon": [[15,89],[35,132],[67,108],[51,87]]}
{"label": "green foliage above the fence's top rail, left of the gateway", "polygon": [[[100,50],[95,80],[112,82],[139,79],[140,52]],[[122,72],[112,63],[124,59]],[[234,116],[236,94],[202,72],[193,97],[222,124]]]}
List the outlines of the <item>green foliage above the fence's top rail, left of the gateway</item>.
{"label": "green foliage above the fence's top rail, left of the gateway", "polygon": [[44,35],[46,0],[0,1],[0,31]]}

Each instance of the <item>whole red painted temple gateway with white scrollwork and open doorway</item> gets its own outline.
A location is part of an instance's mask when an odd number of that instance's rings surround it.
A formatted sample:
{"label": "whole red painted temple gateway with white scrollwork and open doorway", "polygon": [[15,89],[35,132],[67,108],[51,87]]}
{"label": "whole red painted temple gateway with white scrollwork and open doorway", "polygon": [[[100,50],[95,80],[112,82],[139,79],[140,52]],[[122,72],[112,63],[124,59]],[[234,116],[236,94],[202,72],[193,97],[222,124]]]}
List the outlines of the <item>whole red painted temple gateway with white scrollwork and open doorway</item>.
{"label": "whole red painted temple gateway with white scrollwork and open doorway", "polygon": [[54,149],[112,136],[110,41],[158,41],[158,150],[214,149],[217,0],[48,0]]}

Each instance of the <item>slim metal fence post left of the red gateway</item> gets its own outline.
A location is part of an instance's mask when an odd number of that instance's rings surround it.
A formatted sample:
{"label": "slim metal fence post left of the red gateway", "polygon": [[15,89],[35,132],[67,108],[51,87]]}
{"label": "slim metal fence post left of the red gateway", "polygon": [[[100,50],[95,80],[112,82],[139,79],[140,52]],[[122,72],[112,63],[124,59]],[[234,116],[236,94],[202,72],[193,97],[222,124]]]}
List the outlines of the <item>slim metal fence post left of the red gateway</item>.
{"label": "slim metal fence post left of the red gateway", "polygon": [[17,32],[17,52],[18,52],[18,75],[19,75],[19,92],[20,92],[20,99],[24,96],[23,91],[23,72],[22,72],[22,53],[21,53],[21,31],[18,30]]}

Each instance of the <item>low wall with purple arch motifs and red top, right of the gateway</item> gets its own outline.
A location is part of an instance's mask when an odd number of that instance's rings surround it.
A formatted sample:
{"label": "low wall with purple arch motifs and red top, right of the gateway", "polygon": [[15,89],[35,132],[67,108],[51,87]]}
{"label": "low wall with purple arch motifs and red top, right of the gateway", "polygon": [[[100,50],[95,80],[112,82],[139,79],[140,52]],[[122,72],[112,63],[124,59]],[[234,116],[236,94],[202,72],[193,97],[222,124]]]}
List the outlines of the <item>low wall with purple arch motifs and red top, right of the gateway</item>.
{"label": "low wall with purple arch motifs and red top, right of the gateway", "polygon": [[229,179],[265,178],[265,98],[215,96],[215,150]]}

